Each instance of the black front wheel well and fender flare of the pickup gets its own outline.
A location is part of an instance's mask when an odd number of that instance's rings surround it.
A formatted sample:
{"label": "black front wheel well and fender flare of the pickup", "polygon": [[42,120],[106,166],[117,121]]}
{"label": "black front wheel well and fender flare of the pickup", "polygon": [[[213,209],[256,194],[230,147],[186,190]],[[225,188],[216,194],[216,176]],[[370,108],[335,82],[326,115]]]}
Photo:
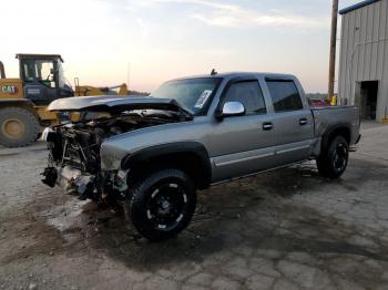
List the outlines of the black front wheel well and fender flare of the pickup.
{"label": "black front wheel well and fender flare of the pickup", "polygon": [[204,166],[206,165],[195,153],[173,153],[155,156],[131,166],[130,183],[135,183],[154,170],[176,168],[187,174],[196,188],[205,189],[210,186],[211,177],[210,168],[204,168]]}

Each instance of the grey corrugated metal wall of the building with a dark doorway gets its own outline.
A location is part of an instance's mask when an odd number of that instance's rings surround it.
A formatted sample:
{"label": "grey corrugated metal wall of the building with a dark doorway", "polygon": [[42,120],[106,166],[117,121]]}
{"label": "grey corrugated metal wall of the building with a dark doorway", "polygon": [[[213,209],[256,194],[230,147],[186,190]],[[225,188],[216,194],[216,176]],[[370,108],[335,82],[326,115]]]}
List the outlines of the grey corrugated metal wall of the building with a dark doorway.
{"label": "grey corrugated metal wall of the building with a dark doorway", "polygon": [[343,15],[338,95],[355,104],[357,82],[379,81],[377,120],[388,106],[388,0]]}

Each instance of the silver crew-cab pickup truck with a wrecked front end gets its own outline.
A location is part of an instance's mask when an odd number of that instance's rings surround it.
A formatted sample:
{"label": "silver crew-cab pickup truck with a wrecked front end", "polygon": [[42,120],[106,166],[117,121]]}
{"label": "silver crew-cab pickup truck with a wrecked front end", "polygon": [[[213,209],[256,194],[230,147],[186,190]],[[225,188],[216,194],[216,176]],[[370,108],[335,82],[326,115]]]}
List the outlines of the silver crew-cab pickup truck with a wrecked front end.
{"label": "silver crew-cab pickup truck with a wrecked front end", "polygon": [[141,235],[182,231],[196,189],[316,159],[338,178],[359,138],[354,106],[310,108],[293,75],[227,73],[164,83],[147,97],[70,97],[81,118],[47,128],[43,183],[80,199],[120,201]]}

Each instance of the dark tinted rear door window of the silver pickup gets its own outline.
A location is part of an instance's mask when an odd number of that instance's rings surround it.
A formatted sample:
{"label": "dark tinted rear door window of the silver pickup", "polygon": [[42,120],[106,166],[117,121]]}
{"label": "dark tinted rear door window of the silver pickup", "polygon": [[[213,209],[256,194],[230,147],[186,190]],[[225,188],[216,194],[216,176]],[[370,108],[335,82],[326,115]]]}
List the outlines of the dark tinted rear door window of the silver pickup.
{"label": "dark tinted rear door window of the silver pickup", "polygon": [[303,108],[302,99],[294,82],[267,81],[275,112],[297,111]]}

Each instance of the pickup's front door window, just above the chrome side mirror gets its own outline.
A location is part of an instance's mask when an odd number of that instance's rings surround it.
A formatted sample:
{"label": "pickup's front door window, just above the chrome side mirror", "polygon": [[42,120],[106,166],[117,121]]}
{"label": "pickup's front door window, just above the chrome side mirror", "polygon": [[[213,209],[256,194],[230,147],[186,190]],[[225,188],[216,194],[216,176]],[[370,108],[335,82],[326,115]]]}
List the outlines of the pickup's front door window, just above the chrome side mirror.
{"label": "pickup's front door window, just above the chrome side mirror", "polygon": [[256,81],[232,84],[225,95],[224,103],[226,102],[241,102],[246,114],[265,114],[267,112],[262,90]]}

